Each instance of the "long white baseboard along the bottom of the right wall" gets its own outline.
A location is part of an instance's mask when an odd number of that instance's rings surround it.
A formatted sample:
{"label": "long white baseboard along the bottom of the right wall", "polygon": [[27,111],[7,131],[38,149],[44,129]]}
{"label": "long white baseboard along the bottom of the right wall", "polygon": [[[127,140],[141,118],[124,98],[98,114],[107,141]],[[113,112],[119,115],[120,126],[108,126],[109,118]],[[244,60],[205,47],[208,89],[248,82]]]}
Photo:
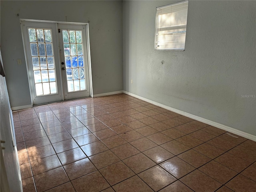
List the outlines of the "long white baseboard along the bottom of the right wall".
{"label": "long white baseboard along the bottom of the right wall", "polygon": [[248,134],[248,133],[246,133],[246,132],[242,132],[242,131],[240,131],[240,130],[237,130],[237,129],[234,129],[234,128],[231,128],[231,127],[228,127],[228,126],[225,126],[225,125],[222,125],[222,124],[219,124],[219,123],[210,121],[210,120],[208,120],[208,119],[204,119],[204,118],[202,118],[202,117],[198,117],[198,116],[196,116],[196,115],[192,115],[192,114],[190,114],[190,113],[187,113],[187,112],[184,112],[184,111],[181,111],[181,110],[178,110],[178,109],[175,109],[175,108],[172,108],[172,107],[169,107],[169,106],[160,104],[160,103],[158,103],[158,102],[154,102],[154,101],[152,101],[152,100],[149,100],[149,99],[147,99],[147,98],[138,96],[138,95],[136,95],[136,94],[133,94],[133,93],[130,93],[130,92],[127,92],[127,91],[124,91],[124,93],[125,93],[125,94],[128,94],[128,95],[130,95],[130,96],[136,97],[136,98],[138,98],[138,99],[140,99],[140,100],[146,101],[146,102],[148,102],[148,103],[154,104],[154,105],[156,105],[156,106],[162,107],[162,108],[164,108],[164,109],[170,110],[170,111],[172,111],[172,112],[175,112],[175,113],[181,114],[181,115],[183,115],[183,116],[192,118],[192,119],[194,119],[194,120],[197,120],[197,121],[206,123],[206,124],[208,124],[208,125],[211,125],[211,126],[220,128],[220,129],[222,129],[222,130],[225,130],[225,131],[228,131],[228,132],[230,132],[230,133],[239,135],[239,136],[241,136],[241,137],[244,137],[244,138],[247,138],[247,139],[256,141],[256,136],[254,136],[254,135],[252,135],[252,134]]}

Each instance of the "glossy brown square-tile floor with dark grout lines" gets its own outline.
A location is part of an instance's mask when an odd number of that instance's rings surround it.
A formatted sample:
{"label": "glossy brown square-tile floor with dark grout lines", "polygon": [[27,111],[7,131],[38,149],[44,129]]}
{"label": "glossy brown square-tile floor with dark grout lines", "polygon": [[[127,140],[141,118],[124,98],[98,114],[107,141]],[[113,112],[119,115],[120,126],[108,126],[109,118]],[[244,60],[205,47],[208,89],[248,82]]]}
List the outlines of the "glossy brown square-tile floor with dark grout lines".
{"label": "glossy brown square-tile floor with dark grout lines", "polygon": [[24,192],[256,191],[256,142],[126,94],[13,118]]}

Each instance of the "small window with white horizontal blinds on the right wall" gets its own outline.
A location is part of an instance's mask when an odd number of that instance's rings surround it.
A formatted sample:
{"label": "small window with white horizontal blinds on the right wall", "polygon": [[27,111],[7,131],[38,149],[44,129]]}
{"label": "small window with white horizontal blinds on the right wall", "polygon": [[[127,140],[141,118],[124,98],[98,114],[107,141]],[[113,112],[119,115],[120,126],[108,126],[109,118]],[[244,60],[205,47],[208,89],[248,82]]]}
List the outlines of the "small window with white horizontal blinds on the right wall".
{"label": "small window with white horizontal blinds on the right wall", "polygon": [[188,1],[156,8],[155,50],[184,50]]}

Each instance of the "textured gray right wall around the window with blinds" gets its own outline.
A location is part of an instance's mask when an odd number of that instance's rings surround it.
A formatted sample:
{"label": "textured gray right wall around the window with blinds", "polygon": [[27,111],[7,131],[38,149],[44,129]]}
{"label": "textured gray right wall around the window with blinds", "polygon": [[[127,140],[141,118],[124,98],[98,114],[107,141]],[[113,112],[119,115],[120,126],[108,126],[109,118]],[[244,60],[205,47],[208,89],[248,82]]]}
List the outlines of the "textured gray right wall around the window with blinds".
{"label": "textured gray right wall around the window with blinds", "polygon": [[256,2],[191,0],[185,51],[154,51],[156,7],[172,2],[123,3],[124,90],[256,135],[256,98],[241,96],[256,94]]}

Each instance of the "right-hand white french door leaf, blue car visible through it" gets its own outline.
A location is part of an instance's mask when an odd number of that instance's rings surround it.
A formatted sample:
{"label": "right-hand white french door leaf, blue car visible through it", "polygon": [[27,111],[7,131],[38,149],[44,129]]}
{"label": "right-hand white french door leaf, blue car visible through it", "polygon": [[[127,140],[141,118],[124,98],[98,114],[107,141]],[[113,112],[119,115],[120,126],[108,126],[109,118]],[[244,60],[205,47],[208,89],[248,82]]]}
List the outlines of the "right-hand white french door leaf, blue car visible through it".
{"label": "right-hand white french door leaf, blue car visible through it", "polygon": [[58,32],[64,98],[68,100],[90,96],[85,26],[58,24]]}

